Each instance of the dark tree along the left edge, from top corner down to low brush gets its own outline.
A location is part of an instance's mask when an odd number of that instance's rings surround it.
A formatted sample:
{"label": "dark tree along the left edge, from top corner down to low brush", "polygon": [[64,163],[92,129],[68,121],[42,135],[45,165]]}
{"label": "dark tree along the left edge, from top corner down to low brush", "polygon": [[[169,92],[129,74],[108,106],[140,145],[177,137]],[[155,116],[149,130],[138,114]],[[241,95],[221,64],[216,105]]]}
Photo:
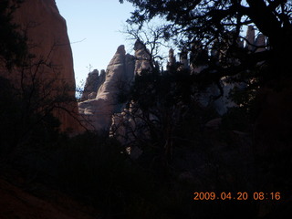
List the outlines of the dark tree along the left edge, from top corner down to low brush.
{"label": "dark tree along the left edge, from top corner down to low brush", "polygon": [[47,54],[31,53],[36,43],[27,43],[27,30],[35,26],[23,30],[13,23],[21,2],[0,3],[0,151],[12,155],[24,146],[55,141],[60,111],[78,120],[75,88],[59,77],[62,69],[51,61],[60,45],[55,42]]}

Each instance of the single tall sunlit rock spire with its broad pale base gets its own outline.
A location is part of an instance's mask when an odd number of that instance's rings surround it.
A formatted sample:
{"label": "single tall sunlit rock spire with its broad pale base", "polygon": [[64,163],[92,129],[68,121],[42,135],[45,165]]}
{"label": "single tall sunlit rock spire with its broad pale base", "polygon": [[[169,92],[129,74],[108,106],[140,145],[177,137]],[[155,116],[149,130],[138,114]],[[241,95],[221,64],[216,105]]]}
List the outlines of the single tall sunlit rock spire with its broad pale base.
{"label": "single tall sunlit rock spire with its broad pale base", "polygon": [[126,54],[121,45],[110,60],[105,80],[99,87],[95,99],[78,104],[84,126],[89,130],[110,130],[111,116],[122,110],[119,94],[130,88],[134,77],[135,57]]}

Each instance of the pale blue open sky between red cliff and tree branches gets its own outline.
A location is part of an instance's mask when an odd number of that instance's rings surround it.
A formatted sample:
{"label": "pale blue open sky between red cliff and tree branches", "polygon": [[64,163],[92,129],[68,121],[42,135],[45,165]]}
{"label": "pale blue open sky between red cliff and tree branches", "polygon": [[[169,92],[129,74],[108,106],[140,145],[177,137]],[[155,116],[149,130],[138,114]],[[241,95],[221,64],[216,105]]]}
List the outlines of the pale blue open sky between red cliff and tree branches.
{"label": "pale blue open sky between red cliff and tree branches", "polygon": [[130,3],[119,0],[56,0],[57,8],[67,21],[77,85],[84,82],[89,70],[106,69],[120,45],[132,53],[132,44],[120,33],[126,25]]}

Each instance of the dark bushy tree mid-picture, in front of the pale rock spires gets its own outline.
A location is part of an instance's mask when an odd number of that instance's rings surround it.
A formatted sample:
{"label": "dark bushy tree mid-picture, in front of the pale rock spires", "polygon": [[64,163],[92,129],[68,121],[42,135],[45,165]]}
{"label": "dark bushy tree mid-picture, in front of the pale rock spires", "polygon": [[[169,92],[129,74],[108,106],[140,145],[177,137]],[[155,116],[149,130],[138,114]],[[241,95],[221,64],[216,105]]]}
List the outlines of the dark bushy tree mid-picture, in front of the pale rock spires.
{"label": "dark bushy tree mid-picture, in front of the pale rock spires", "polygon": [[134,123],[120,124],[128,130],[124,137],[131,139],[130,146],[137,145],[146,151],[151,148],[165,162],[171,159],[176,129],[185,120],[192,102],[190,78],[187,70],[153,69],[136,75],[129,92],[120,98],[128,103],[127,115]]}

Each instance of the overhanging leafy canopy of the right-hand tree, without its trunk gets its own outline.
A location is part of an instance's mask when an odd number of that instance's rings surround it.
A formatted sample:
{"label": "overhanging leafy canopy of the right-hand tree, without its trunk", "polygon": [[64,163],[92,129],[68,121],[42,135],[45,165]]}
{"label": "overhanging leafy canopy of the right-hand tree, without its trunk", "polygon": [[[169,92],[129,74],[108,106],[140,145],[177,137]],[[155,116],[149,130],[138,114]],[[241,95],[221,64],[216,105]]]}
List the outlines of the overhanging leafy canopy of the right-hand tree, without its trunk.
{"label": "overhanging leafy canopy of the right-hand tree, without its trunk", "polygon": [[[239,61],[227,67],[211,65],[202,72],[200,79],[217,81],[224,76],[254,69],[259,62],[265,62],[269,67],[257,72],[263,83],[273,78],[290,77],[292,67],[287,54],[292,50],[292,4],[287,0],[127,1],[136,7],[128,23],[141,27],[159,16],[168,22],[163,37],[173,39],[181,47],[191,50],[196,42],[209,49],[216,44],[219,47],[227,44],[225,58],[233,57]],[[249,54],[239,51],[237,40],[247,25],[254,25],[267,37],[270,49]],[[251,42],[245,38],[245,43]]]}

